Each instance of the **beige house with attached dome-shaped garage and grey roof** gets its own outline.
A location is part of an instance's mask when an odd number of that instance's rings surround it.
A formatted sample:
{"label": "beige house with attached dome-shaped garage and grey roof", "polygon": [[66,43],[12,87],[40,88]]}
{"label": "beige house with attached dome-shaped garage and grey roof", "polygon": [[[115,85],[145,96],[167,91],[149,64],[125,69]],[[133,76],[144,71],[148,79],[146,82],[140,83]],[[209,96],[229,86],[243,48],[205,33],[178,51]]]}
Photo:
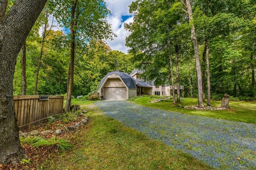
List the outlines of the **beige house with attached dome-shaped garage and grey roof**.
{"label": "beige house with attached dome-shaped garage and grey roof", "polygon": [[142,94],[170,96],[170,86],[155,86],[152,82],[145,81],[140,76],[142,73],[137,69],[130,75],[119,70],[109,72],[100,81],[98,92],[104,100],[127,100]]}

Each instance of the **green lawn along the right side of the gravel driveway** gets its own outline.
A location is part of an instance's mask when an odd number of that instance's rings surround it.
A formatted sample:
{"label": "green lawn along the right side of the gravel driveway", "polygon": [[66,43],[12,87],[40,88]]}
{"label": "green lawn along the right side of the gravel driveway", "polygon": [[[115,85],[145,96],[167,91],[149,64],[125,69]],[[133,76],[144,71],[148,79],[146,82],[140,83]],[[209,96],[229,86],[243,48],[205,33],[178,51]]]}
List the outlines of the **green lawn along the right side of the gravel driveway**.
{"label": "green lawn along the right side of the gravel driveway", "polygon": [[[244,123],[254,123],[256,124],[256,104],[251,102],[229,102],[229,106],[232,109],[229,110],[191,110],[191,109],[182,109],[184,106],[196,106],[198,105],[197,98],[183,98],[181,103],[178,105],[172,104],[171,100],[165,100],[164,102],[149,103],[152,98],[149,96],[143,96],[137,98],[134,101],[136,104],[142,106],[163,109],[166,111],[172,111],[177,113],[183,113],[187,115],[199,115],[204,117],[212,117],[216,119],[225,119],[230,121],[238,121]],[[220,107],[221,102],[211,102],[212,106]],[[206,103],[205,103],[206,106]]]}

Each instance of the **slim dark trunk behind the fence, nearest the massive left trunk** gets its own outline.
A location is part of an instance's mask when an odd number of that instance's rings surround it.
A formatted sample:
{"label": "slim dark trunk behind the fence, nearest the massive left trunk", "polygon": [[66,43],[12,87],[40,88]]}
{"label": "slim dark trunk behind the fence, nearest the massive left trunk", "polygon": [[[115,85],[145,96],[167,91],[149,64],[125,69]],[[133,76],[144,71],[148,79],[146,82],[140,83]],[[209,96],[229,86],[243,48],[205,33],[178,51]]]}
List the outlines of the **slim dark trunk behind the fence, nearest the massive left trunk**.
{"label": "slim dark trunk behind the fence, nearest the massive left trunk", "polygon": [[27,92],[27,76],[26,76],[26,41],[21,48],[21,95]]}

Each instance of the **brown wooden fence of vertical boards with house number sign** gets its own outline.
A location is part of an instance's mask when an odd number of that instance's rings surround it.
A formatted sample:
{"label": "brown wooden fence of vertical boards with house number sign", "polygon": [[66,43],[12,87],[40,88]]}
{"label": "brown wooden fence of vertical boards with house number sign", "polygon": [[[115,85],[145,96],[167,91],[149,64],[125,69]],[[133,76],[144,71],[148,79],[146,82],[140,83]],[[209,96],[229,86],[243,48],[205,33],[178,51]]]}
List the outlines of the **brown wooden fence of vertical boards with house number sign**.
{"label": "brown wooden fence of vertical boards with house number sign", "polygon": [[[39,100],[41,97],[42,100]],[[15,115],[18,126],[25,129],[36,125],[50,115],[63,113],[64,96],[14,96]]]}

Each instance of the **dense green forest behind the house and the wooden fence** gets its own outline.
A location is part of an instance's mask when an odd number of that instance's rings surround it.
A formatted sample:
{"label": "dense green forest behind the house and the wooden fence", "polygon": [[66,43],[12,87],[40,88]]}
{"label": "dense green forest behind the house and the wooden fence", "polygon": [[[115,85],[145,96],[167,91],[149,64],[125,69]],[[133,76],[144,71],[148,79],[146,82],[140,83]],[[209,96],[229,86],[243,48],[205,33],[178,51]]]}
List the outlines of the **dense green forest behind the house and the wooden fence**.
{"label": "dense green forest behind the house and the wooden fence", "polygon": [[[9,1],[12,6],[14,1]],[[206,44],[209,49],[211,96],[224,93],[233,100],[255,100],[256,6],[254,0],[194,0],[193,22],[189,22],[180,0],[137,0],[130,6],[134,22],[126,25],[132,32],[126,45],[128,54],[113,51],[104,39],[84,39],[78,31],[74,53],[74,97],[96,92],[100,80],[112,70],[130,74],[134,68],[145,70],[148,80],[171,84],[170,59],[178,51],[179,84],[185,96],[197,97],[197,77],[191,24],[198,38],[202,86],[207,96]],[[186,6],[185,6],[186,7]],[[70,64],[70,32],[54,31],[58,9],[48,3],[26,39],[26,94],[64,95],[67,92]],[[44,30],[39,33],[39,29]],[[80,27],[86,29],[86,25]],[[107,28],[106,28],[107,29]],[[14,95],[22,94],[22,51],[14,73]],[[172,66],[177,66],[172,62]],[[37,73],[38,72],[38,73]],[[24,72],[23,72],[24,74]],[[36,77],[38,85],[35,93]],[[174,84],[177,70],[173,69]]]}

